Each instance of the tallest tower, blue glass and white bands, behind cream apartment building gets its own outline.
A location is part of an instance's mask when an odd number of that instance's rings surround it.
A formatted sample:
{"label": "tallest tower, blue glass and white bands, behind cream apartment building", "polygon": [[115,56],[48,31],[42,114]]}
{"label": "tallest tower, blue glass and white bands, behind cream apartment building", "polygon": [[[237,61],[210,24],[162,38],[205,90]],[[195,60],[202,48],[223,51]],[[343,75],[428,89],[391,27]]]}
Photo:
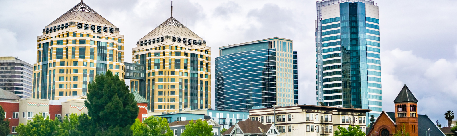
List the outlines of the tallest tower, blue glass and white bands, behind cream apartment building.
{"label": "tallest tower, blue glass and white bands, behind cream apartment building", "polygon": [[317,105],[383,111],[379,12],[372,0],[317,2]]}

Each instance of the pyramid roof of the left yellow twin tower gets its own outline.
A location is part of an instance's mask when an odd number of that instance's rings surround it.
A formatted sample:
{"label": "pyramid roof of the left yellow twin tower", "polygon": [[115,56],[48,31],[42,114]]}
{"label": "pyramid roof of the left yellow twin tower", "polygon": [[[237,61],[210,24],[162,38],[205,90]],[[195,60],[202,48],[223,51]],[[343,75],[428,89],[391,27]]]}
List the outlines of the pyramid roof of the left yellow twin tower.
{"label": "pyramid roof of the left yellow twin tower", "polygon": [[95,10],[93,10],[88,5],[86,5],[82,0],[80,3],[75,5],[73,8],[71,8],[67,12],[65,12],[64,15],[61,15],[59,18],[54,20],[49,25],[64,22],[67,20],[81,20],[81,21],[88,21],[88,22],[94,22],[94,23],[100,23],[100,24],[106,24],[106,25],[113,25],[108,20],[103,18],[100,14],[98,14]]}

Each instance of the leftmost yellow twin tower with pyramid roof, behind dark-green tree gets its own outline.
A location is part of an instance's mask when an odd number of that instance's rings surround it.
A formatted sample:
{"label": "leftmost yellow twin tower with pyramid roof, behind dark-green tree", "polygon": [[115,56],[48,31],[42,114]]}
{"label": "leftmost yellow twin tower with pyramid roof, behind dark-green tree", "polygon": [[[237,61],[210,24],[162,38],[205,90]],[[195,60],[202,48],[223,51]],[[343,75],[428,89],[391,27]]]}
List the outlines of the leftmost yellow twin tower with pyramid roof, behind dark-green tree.
{"label": "leftmost yellow twin tower with pyramid roof, behind dark-green tree", "polygon": [[108,70],[124,80],[123,39],[119,28],[81,1],[37,37],[33,98],[85,96],[96,74]]}

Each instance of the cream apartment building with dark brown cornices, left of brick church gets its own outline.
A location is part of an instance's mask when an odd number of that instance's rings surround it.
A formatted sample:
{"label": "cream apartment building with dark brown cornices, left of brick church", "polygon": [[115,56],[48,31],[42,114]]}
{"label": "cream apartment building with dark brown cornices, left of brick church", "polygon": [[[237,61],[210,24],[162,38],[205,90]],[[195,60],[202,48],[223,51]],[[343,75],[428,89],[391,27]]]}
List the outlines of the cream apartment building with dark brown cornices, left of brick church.
{"label": "cream apartment building with dark brown cornices, left of brick church", "polygon": [[250,119],[274,124],[279,136],[333,136],[337,126],[359,125],[367,132],[366,112],[372,110],[332,106],[297,105],[249,111]]}

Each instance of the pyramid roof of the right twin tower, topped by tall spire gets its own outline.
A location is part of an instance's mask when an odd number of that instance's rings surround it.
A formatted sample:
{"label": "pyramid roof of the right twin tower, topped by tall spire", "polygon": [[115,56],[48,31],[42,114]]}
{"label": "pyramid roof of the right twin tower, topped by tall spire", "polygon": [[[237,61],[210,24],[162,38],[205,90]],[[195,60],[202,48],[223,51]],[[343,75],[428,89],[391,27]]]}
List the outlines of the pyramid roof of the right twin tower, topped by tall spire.
{"label": "pyramid roof of the right twin tower, topped by tall spire", "polygon": [[[194,37],[194,38],[200,38],[197,34],[192,32],[190,29],[188,29],[186,26],[182,25],[178,20],[176,20],[173,17],[168,18],[157,26],[154,30],[149,32],[147,35],[145,35],[141,39],[149,38],[149,37],[154,37],[157,35],[182,35],[186,37]],[[202,39],[202,38],[200,38]]]}

